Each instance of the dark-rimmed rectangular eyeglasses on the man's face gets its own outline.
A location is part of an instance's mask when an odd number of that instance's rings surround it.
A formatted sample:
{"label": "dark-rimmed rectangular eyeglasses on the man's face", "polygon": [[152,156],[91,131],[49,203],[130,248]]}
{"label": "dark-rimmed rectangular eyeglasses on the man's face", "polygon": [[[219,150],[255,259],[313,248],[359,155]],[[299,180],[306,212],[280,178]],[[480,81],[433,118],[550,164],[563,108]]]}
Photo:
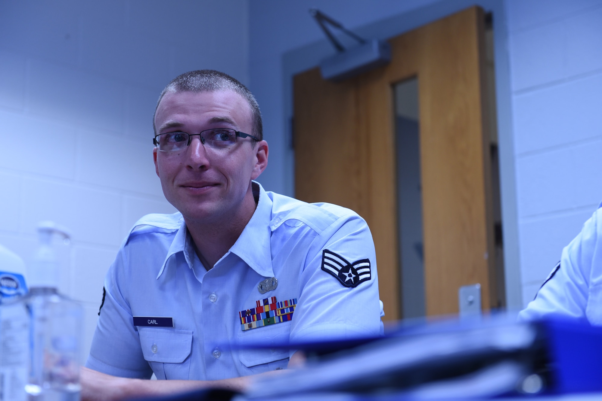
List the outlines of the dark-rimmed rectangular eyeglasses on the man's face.
{"label": "dark-rimmed rectangular eyeglasses on the man's face", "polygon": [[257,137],[231,128],[213,128],[200,131],[198,134],[188,134],[181,131],[158,134],[155,135],[152,143],[157,146],[158,150],[163,152],[179,151],[187,148],[195,135],[198,135],[200,142],[209,148],[227,148],[236,143],[237,137],[246,138],[248,136],[259,142]]}

